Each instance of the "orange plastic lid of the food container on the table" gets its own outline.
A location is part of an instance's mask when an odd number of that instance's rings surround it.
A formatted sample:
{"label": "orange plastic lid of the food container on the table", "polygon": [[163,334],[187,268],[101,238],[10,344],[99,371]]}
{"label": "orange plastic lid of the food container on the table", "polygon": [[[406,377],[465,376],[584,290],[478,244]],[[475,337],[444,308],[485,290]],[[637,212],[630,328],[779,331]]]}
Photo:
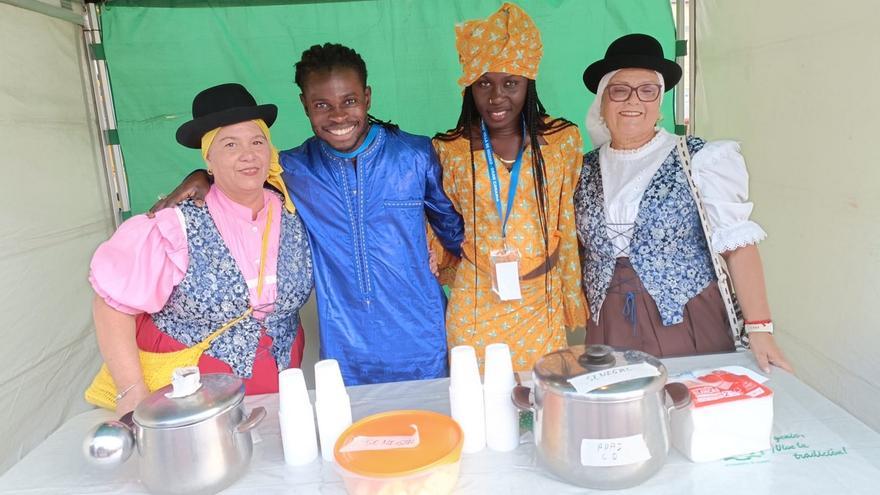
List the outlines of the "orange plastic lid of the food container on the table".
{"label": "orange plastic lid of the food container on the table", "polygon": [[339,435],[333,456],[347,471],[387,478],[458,462],[463,443],[461,427],[449,416],[389,411],[349,426]]}

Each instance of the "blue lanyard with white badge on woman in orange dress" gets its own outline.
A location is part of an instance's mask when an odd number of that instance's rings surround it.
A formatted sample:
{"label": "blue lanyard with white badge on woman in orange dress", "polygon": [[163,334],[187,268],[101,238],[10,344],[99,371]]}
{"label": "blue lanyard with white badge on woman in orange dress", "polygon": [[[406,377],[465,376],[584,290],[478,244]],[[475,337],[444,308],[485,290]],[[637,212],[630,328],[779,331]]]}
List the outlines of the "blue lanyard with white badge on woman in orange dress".
{"label": "blue lanyard with white badge on woman in orange dress", "polygon": [[492,199],[498,210],[498,218],[501,220],[501,249],[489,252],[489,264],[492,273],[492,292],[498,295],[502,301],[514,301],[522,299],[519,286],[519,250],[507,244],[507,221],[510,219],[510,211],[513,209],[516,187],[519,184],[519,172],[522,169],[523,150],[526,143],[526,128],[523,124],[523,141],[516,155],[516,161],[510,169],[510,184],[507,189],[507,210],[501,205],[501,185],[498,181],[498,170],[495,167],[495,155],[492,151],[492,142],[489,140],[489,131],[486,124],[480,121],[480,133],[483,137],[483,152],[486,155],[486,167],[489,171],[489,184],[492,190]]}

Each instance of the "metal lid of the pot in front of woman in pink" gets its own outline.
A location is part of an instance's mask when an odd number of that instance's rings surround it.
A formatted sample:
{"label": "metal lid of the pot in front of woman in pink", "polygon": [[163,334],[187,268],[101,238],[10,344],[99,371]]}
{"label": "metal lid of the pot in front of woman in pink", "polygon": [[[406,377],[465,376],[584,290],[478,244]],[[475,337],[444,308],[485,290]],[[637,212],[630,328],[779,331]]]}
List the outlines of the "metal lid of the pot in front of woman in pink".
{"label": "metal lid of the pot in front of woman in pink", "polygon": [[200,423],[235,407],[244,399],[244,382],[226,373],[201,375],[202,386],[191,395],[171,398],[167,385],[141,401],[134,422],[142,428],[177,428]]}

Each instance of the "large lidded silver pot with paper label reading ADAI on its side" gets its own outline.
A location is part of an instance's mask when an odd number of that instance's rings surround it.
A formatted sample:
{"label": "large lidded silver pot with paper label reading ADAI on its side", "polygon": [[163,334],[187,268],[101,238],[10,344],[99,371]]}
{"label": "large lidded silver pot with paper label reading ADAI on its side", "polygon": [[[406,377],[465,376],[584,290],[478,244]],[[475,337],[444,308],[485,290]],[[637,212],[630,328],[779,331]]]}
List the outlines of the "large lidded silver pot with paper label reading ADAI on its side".
{"label": "large lidded silver pot with paper label reading ADAI on its side", "polygon": [[[535,364],[534,389],[513,399],[534,413],[539,463],[587,488],[628,488],[651,477],[669,451],[669,411],[690,394],[668,384],[666,367],[640,351],[574,346]],[[669,400],[667,400],[667,396]]]}

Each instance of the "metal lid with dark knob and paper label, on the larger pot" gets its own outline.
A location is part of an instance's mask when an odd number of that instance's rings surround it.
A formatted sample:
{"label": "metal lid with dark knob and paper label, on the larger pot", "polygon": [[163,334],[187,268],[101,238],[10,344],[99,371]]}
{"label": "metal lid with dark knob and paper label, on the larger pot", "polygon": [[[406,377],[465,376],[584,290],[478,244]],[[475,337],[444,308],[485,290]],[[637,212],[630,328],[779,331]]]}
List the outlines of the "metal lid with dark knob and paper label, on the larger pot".
{"label": "metal lid with dark knob and paper label, on the larger pot", "polygon": [[591,400],[641,397],[666,384],[666,367],[654,356],[607,345],[576,345],[535,363],[535,380],[558,393]]}

